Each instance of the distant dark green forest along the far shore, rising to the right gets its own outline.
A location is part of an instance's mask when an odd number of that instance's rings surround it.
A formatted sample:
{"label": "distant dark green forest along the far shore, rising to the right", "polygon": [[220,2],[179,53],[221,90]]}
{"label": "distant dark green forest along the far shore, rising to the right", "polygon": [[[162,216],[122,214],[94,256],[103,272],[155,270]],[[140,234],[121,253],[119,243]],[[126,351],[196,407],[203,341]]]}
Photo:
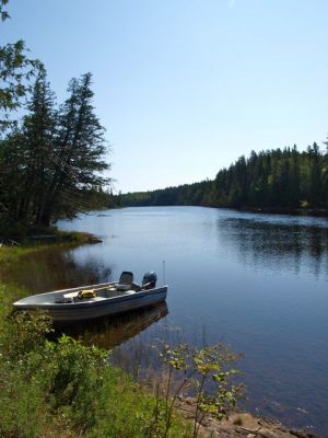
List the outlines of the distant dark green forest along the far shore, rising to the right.
{"label": "distant dark green forest along the far shore, rising to the right", "polygon": [[[326,143],[327,145],[327,143]],[[231,208],[328,208],[328,148],[317,143],[300,152],[297,147],[251,151],[213,181],[185,184],[120,196],[122,206],[195,205]]]}

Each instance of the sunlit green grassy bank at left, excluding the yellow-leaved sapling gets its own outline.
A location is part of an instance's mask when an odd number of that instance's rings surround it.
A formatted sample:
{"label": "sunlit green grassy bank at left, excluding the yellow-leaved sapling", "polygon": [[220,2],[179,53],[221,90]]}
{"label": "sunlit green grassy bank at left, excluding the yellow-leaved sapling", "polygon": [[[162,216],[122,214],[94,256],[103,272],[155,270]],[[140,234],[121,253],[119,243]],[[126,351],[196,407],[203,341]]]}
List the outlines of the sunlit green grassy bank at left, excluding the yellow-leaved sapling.
{"label": "sunlit green grassy bank at left, excluding the yellow-leaved sapling", "polygon": [[[66,234],[60,244],[90,239],[74,237]],[[47,247],[44,242],[2,245],[0,260],[20,263],[21,257]],[[65,335],[49,341],[52,327],[45,313],[12,313],[12,301],[26,293],[15,285],[0,285],[0,436],[166,436],[160,415],[164,401],[113,367],[108,351]],[[185,420],[175,414],[168,436],[190,436]]]}

